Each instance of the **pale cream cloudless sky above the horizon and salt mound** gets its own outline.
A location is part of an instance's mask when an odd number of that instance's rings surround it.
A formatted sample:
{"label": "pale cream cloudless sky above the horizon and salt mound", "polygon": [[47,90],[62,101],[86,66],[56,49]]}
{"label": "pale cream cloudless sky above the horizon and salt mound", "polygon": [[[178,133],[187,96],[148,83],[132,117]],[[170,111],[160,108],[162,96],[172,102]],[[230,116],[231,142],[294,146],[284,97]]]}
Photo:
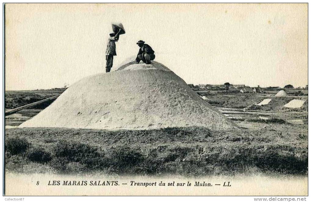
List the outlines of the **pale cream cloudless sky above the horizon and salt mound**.
{"label": "pale cream cloudless sky above the horizon and salt mound", "polygon": [[308,4],[7,4],[6,90],[50,89],[112,71],[144,40],[187,83],[308,84]]}

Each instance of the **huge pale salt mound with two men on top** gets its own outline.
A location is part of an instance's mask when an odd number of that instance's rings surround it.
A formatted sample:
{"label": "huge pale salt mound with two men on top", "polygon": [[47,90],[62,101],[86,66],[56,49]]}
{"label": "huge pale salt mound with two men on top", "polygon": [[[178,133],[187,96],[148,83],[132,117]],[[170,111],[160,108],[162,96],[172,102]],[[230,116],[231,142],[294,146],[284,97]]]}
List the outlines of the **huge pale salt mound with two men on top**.
{"label": "huge pale salt mound with two men on top", "polygon": [[19,127],[108,130],[237,127],[160,63],[131,62],[120,68],[71,85],[49,107]]}

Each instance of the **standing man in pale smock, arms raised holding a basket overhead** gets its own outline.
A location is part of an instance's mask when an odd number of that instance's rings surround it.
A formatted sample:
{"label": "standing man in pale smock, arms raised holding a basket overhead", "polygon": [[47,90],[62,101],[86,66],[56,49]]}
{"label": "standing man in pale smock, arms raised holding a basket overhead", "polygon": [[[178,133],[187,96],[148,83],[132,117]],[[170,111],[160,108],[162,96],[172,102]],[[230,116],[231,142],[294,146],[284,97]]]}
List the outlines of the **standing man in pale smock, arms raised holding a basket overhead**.
{"label": "standing man in pale smock, arms raised holding a basket overhead", "polygon": [[108,39],[107,49],[106,49],[106,72],[109,72],[113,65],[114,55],[116,53],[116,44],[115,42],[119,39],[121,29],[119,29],[118,33],[110,33],[110,37]]}

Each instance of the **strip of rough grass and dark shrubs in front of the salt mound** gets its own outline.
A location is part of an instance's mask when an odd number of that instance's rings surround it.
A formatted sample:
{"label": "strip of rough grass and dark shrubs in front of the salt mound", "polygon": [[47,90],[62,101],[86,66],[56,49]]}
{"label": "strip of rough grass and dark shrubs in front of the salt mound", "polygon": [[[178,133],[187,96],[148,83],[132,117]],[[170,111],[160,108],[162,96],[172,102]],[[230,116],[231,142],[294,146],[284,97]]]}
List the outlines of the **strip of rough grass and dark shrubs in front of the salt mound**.
{"label": "strip of rough grass and dark shrubs in front of the salt mound", "polygon": [[278,127],[268,124],[258,130],[232,131],[203,127],[142,131],[7,129],[5,168],[66,174],[306,174],[307,135],[291,133],[288,124]]}

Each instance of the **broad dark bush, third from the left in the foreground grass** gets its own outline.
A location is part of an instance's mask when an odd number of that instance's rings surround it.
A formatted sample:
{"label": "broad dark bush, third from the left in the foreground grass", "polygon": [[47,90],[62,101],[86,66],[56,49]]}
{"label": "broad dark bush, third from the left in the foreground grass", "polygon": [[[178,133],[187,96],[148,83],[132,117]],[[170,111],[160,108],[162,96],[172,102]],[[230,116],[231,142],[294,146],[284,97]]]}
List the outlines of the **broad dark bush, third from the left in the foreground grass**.
{"label": "broad dark bush, third from the left in the foreground grass", "polygon": [[89,159],[99,157],[96,147],[78,142],[58,141],[53,148],[55,157],[64,157],[68,161],[85,163]]}

